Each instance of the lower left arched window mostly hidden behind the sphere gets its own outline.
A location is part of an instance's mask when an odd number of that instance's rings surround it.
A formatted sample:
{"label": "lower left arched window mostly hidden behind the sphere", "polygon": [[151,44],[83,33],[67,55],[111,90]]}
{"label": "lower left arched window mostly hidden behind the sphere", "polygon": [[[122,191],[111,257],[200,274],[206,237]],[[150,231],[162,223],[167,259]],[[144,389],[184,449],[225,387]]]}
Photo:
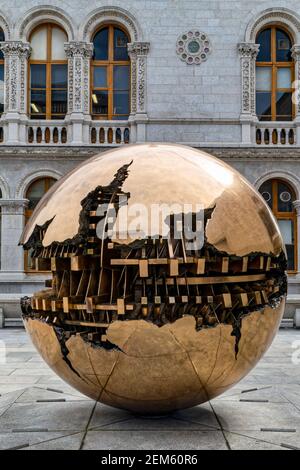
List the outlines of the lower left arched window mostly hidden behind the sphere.
{"label": "lower left arched window mostly hidden behind the sphere", "polygon": [[[39,178],[35,180],[31,185],[28,187],[26,191],[26,199],[29,200],[27,209],[25,211],[25,224],[28,222],[29,218],[31,217],[35,207],[38,205],[44,194],[56,183],[54,178]],[[25,251],[25,271],[32,270],[32,258],[31,252]]]}

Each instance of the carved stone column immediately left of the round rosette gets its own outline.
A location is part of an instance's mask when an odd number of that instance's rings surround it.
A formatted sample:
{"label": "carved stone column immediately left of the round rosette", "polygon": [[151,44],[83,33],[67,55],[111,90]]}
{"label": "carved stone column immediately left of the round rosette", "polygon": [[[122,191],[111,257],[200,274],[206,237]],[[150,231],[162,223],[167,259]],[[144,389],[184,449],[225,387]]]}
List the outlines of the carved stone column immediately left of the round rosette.
{"label": "carved stone column immediately left of the round rosette", "polygon": [[146,141],[147,116],[147,55],[149,42],[131,42],[128,54],[131,59],[131,113],[132,142]]}

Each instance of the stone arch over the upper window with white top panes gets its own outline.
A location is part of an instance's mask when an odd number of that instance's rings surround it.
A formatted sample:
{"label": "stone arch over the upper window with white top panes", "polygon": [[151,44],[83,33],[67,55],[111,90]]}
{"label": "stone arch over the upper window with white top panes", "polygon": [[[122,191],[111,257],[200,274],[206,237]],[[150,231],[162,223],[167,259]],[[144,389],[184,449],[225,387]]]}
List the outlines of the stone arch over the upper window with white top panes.
{"label": "stone arch over the upper window with white top panes", "polygon": [[71,18],[58,7],[44,5],[34,7],[28,11],[16,27],[16,35],[20,41],[28,41],[32,30],[41,23],[56,23],[63,28],[68,40],[74,40],[74,27]]}

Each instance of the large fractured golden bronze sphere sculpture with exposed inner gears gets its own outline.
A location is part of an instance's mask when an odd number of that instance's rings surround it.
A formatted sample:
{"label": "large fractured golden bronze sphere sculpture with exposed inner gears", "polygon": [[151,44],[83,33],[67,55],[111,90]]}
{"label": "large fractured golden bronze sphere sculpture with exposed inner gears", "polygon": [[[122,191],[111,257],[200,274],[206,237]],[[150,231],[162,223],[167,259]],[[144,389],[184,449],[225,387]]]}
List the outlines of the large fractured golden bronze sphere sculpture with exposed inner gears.
{"label": "large fractured golden bronze sphere sculpture with exposed inner gears", "polygon": [[51,188],[21,243],[37,271],[52,272],[21,302],[33,343],[60,377],[111,406],[158,414],[223,393],[283,315],[273,215],[237,171],[192,148],[93,157]]}

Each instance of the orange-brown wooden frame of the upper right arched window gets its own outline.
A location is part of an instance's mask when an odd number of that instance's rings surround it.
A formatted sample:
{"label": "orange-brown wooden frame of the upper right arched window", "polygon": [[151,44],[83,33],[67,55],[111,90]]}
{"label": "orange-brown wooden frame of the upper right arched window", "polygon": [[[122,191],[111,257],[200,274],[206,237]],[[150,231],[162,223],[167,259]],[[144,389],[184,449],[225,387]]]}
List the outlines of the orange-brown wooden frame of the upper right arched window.
{"label": "orange-brown wooden frame of the upper right arched window", "polygon": [[[291,61],[286,61],[286,62],[277,62],[276,58],[276,52],[277,52],[277,45],[276,45],[276,30],[282,30],[284,31],[287,36],[289,37],[291,44],[293,45],[294,40],[289,32],[289,30],[282,25],[279,24],[271,24],[271,25],[266,25],[264,28],[262,28],[258,33],[261,34],[263,31],[270,29],[271,30],[271,61],[270,62],[258,62],[256,60],[255,66],[256,67],[270,67],[271,68],[271,121],[276,121],[276,122],[281,122],[280,120],[277,120],[277,113],[276,113],[276,93],[277,92],[285,92],[285,93],[292,93],[294,92],[294,88],[292,87],[292,84],[295,80],[295,61],[292,59]],[[259,43],[258,43],[259,44]],[[291,70],[291,87],[290,88],[277,88],[277,69],[280,68],[290,68]],[[256,72],[255,72],[256,74]],[[255,90],[256,92],[259,90]],[[257,109],[256,109],[257,113]],[[296,106],[292,102],[292,117],[291,120],[286,120],[282,122],[291,122],[295,119],[296,117]],[[268,120],[261,120],[259,119],[260,122],[270,122]]]}

